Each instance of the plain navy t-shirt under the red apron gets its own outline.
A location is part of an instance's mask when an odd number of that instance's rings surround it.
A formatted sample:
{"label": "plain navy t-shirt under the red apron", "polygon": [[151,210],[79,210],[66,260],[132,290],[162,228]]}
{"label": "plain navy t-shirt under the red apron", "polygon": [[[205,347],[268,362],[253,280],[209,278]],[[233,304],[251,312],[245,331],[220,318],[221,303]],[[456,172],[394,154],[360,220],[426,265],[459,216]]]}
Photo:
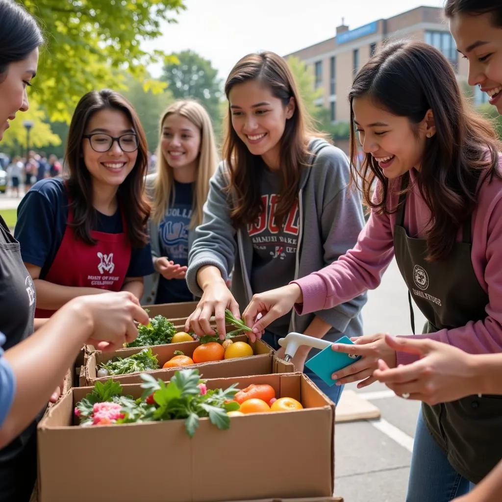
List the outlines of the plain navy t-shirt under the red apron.
{"label": "plain navy t-shirt under the red apron", "polygon": [[[15,238],[21,244],[23,262],[41,267],[43,279],[51,268],[63,240],[68,221],[68,197],[61,178],[46,178],[33,185],[18,207]],[[122,216],[97,212],[98,232],[122,232]],[[143,277],[154,272],[150,244],[133,247],[126,277]]]}

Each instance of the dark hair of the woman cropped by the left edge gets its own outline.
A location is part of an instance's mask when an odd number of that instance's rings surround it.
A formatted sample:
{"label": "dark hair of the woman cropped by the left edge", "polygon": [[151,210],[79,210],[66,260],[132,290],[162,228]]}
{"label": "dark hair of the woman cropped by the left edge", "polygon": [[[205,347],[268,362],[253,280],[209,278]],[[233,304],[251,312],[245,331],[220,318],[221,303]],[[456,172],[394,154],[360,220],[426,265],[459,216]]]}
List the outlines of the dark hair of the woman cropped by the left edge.
{"label": "dark hair of the woman cropped by the left edge", "polygon": [[0,0],[0,79],[10,63],[23,61],[44,43],[37,22],[17,2]]}

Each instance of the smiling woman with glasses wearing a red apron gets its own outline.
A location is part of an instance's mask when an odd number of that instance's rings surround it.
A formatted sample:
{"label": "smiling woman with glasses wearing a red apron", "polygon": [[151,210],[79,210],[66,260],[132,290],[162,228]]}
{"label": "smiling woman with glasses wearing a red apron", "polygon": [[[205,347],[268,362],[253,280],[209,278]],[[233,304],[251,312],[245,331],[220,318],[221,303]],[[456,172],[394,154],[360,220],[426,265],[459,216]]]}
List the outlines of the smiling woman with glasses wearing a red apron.
{"label": "smiling woman with glasses wearing a red apron", "polygon": [[104,291],[143,294],[153,272],[144,198],[146,139],[132,105],[92,91],[75,109],[67,178],[39,181],[21,201],[15,237],[37,290],[36,317]]}

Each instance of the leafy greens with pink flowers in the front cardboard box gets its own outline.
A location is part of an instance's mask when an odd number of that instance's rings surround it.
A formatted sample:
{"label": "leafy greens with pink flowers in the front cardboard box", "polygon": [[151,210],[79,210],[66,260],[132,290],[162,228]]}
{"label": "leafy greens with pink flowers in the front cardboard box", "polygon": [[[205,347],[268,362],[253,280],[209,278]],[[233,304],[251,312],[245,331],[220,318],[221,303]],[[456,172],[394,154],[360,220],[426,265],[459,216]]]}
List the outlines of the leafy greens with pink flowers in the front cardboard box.
{"label": "leafy greens with pink flowers in the front cardboard box", "polygon": [[142,374],[143,396],[134,401],[121,396],[122,387],[113,380],[96,382],[94,391],[80,401],[75,414],[81,425],[108,425],[161,420],[185,420],[190,437],[195,434],[199,418],[208,417],[218,429],[228,429],[228,411],[239,405],[232,401],[236,384],[228,389],[207,390],[197,369],[176,371],[169,383]]}

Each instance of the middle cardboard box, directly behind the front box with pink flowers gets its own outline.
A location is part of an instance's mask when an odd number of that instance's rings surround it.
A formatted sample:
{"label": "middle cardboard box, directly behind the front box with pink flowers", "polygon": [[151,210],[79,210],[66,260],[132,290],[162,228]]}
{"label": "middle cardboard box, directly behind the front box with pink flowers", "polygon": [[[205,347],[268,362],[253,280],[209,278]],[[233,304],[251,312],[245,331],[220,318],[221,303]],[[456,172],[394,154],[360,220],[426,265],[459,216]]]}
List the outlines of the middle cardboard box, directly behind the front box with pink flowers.
{"label": "middle cardboard box, directly behind the front box with pink flowers", "polygon": [[[241,340],[248,342],[245,335],[234,338],[235,341]],[[200,345],[199,342],[181,342],[171,343],[168,345],[154,345],[152,352],[157,354],[157,359],[161,369],[154,369],[146,371],[153,375],[156,379],[161,379],[165,382],[171,379],[174,373],[179,368],[162,369],[162,365],[171,357],[173,357],[176,350],[181,350],[185,355],[192,356],[193,351]],[[257,340],[255,343],[250,343],[253,347],[255,355],[249,357],[238,357],[235,359],[223,359],[222,361],[203,362],[194,364],[193,368],[198,368],[202,378],[227,378],[230,376],[247,376],[247,375],[260,375],[267,373],[289,373],[295,370],[291,362],[285,362],[282,359],[274,357],[274,350],[270,345],[262,340]],[[113,378],[121,384],[141,384],[141,373],[136,371],[134,373],[127,373],[123,375],[110,375],[102,378],[97,378],[97,370],[102,362],[106,362],[112,357],[127,357],[129,355],[137,354],[142,348],[134,347],[129,349],[120,349],[116,352],[100,352],[99,350],[92,352],[85,366],[83,378],[80,380],[80,386],[93,386],[96,381],[105,382],[109,378]]]}

